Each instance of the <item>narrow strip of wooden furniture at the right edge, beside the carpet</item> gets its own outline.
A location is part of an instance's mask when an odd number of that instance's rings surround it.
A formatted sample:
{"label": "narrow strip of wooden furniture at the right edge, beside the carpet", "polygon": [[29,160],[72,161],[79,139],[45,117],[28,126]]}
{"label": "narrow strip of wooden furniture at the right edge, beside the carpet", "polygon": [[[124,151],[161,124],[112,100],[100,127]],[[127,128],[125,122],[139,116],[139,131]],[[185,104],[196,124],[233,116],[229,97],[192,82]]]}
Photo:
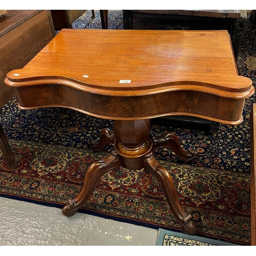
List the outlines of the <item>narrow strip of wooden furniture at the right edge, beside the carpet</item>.
{"label": "narrow strip of wooden furniture at the right edge, beside the carpet", "polygon": [[250,115],[251,140],[251,245],[256,245],[256,103],[252,105]]}

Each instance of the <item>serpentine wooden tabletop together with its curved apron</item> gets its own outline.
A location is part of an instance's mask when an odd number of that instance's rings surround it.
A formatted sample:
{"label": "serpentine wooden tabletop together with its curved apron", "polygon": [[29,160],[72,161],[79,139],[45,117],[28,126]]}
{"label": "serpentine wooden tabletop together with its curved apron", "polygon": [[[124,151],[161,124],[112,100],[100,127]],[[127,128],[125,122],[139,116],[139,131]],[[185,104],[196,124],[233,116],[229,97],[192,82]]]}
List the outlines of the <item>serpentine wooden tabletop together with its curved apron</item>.
{"label": "serpentine wooden tabletop together with its curved apron", "polygon": [[22,109],[66,106],[119,120],[190,115],[229,124],[242,121],[244,100],[254,92],[238,75],[227,31],[63,29],[6,83]]}

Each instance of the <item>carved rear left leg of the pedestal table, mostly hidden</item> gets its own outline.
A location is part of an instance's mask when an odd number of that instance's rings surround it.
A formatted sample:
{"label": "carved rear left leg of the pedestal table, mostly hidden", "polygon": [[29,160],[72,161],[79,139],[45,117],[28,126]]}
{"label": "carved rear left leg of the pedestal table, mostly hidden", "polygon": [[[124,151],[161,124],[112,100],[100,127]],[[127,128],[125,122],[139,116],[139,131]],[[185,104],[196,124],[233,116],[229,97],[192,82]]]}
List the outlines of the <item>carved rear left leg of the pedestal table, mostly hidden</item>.
{"label": "carved rear left leg of the pedestal table, mostly hidden", "polygon": [[98,140],[94,140],[90,142],[90,146],[95,151],[101,151],[106,145],[108,144],[113,145],[114,141],[115,141],[114,133],[110,129],[104,128],[101,130],[99,142]]}

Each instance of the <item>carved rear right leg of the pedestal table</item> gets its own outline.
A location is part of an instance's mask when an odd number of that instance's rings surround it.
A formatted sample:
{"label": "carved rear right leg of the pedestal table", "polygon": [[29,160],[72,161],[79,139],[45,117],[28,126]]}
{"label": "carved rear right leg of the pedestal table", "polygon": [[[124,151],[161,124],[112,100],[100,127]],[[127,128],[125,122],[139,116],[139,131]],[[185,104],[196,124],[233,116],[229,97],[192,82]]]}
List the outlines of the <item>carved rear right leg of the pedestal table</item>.
{"label": "carved rear right leg of the pedestal table", "polygon": [[199,152],[191,148],[185,151],[180,144],[179,138],[174,133],[163,134],[162,136],[153,137],[153,148],[155,152],[161,148],[170,148],[180,159],[186,162],[195,162],[198,160]]}

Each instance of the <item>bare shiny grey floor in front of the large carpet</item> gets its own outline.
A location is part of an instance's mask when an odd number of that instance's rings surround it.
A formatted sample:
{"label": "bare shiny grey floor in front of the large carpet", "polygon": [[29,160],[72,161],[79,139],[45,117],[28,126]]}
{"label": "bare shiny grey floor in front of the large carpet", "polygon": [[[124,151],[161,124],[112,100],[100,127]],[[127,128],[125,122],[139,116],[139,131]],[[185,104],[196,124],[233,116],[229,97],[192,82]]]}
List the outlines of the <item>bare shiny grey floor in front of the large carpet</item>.
{"label": "bare shiny grey floor in front of the large carpet", "polygon": [[158,230],[0,197],[0,245],[156,245]]}

